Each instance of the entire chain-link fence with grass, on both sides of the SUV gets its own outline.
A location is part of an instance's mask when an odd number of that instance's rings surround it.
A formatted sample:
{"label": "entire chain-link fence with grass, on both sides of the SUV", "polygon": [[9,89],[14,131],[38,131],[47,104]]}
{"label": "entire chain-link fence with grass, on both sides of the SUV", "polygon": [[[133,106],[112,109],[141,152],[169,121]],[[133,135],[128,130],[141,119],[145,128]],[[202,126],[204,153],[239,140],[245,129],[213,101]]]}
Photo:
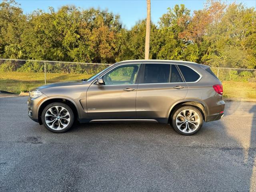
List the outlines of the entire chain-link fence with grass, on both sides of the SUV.
{"label": "entire chain-link fence with grass, on both sides of the SUV", "polygon": [[[20,93],[48,83],[81,80],[110,64],[0,59],[0,90]],[[211,68],[222,81],[224,97],[256,99],[256,70]]]}

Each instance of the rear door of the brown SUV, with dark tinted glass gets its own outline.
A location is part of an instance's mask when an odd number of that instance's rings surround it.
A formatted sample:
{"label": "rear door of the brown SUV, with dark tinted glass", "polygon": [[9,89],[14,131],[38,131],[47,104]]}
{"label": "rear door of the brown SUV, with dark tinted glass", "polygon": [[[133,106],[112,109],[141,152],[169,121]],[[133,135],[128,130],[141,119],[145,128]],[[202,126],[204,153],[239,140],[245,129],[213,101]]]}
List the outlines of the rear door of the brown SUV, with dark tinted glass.
{"label": "rear door of the brown SUV, with dark tinted glass", "polygon": [[174,64],[143,64],[136,95],[138,118],[166,118],[170,107],[185,98],[188,87]]}

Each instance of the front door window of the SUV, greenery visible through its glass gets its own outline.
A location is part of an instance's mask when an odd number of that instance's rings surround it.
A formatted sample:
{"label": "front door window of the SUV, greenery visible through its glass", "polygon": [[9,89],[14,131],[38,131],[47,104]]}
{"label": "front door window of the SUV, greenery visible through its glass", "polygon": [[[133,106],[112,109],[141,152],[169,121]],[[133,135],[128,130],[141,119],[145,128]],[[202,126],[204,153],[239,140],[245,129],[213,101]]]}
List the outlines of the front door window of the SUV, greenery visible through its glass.
{"label": "front door window of the SUV, greenery visible through its glass", "polygon": [[102,78],[105,85],[134,84],[140,64],[125,65],[114,68]]}

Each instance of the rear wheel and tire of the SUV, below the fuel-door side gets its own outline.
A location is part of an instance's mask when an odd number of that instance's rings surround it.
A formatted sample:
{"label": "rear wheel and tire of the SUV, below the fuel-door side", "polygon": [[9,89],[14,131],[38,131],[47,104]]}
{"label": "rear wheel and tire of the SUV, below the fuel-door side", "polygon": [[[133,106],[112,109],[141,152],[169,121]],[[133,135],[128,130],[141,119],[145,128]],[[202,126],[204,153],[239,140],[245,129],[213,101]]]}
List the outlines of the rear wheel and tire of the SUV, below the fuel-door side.
{"label": "rear wheel and tire of the SUV, below the fuel-door side", "polygon": [[183,106],[174,110],[171,125],[181,135],[193,135],[202,127],[203,116],[197,108]]}

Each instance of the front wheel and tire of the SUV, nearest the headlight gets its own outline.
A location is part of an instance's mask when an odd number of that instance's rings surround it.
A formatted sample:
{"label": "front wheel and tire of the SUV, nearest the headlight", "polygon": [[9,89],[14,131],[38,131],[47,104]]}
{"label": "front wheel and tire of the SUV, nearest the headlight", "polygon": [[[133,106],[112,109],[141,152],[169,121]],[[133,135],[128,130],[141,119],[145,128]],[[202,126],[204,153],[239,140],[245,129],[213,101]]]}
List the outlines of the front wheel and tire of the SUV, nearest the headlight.
{"label": "front wheel and tire of the SUV, nearest the headlight", "polygon": [[68,105],[55,102],[44,108],[41,119],[44,126],[51,132],[63,133],[72,127],[74,112]]}

